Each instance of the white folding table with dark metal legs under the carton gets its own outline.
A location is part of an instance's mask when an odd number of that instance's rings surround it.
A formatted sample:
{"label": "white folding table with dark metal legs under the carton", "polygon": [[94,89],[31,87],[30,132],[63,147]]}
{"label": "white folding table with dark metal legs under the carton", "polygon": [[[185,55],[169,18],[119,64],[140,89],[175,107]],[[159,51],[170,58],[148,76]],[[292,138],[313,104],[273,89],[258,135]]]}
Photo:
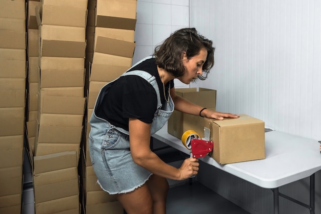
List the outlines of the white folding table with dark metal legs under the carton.
{"label": "white folding table with dark metal legs under the carton", "polygon": [[[153,138],[182,151],[186,149],[180,139],[167,132],[167,124],[156,132]],[[210,156],[199,158],[214,167],[234,176],[249,181],[263,188],[270,188],[274,193],[274,213],[277,214],[278,197],[284,197],[299,205],[305,206],[314,213],[314,174],[321,170],[319,142],[279,131],[265,133],[266,158],[246,162],[219,164]],[[304,204],[278,192],[278,187],[310,177],[310,204]]]}

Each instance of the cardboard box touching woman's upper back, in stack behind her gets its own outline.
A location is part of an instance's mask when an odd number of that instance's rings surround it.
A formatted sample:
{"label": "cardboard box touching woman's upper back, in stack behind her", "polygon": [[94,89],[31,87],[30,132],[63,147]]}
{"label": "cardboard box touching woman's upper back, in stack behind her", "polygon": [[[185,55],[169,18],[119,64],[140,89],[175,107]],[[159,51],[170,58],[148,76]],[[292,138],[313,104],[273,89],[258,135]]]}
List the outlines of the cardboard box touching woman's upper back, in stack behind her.
{"label": "cardboard box touching woman's upper back, in stack behind her", "polygon": [[91,64],[90,82],[111,82],[124,74],[129,66]]}

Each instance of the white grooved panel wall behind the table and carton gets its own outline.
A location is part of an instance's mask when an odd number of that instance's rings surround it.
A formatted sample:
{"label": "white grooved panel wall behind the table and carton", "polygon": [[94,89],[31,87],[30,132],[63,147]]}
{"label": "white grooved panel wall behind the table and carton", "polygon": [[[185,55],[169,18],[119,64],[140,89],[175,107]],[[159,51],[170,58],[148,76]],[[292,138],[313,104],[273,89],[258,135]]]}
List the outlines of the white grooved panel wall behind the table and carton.
{"label": "white grooved panel wall behind the table and carton", "polygon": [[[321,1],[191,0],[190,27],[216,46],[209,78],[191,87],[216,89],[217,110],[321,140]],[[273,213],[272,191],[209,168],[200,169],[200,182],[250,213]],[[321,212],[320,176],[315,213]],[[303,179],[280,192],[308,203],[308,183]],[[280,213],[309,210],[280,198]]]}

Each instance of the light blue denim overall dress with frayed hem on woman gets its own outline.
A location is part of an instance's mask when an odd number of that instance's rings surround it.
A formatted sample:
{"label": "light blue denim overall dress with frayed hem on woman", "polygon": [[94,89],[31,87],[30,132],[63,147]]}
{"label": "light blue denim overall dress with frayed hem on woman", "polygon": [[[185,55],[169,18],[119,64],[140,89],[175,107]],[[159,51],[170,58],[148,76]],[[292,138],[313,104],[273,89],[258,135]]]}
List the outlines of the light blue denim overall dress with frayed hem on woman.
{"label": "light blue denim overall dress with frayed hem on woman", "polygon": [[[174,110],[174,103],[170,96],[169,105],[167,102],[161,103],[156,79],[149,73],[143,70],[132,70],[122,76],[126,75],[137,75],[144,78],[156,91],[157,110],[151,124],[152,135],[165,125]],[[90,118],[91,129],[89,133],[89,154],[98,178],[97,183],[111,195],[132,192],[135,188],[142,186],[152,175],[151,172],[134,163],[130,153],[129,132],[111,125],[95,114],[96,106],[101,102],[113,82],[106,84],[98,94]],[[162,106],[164,108],[160,109]]]}

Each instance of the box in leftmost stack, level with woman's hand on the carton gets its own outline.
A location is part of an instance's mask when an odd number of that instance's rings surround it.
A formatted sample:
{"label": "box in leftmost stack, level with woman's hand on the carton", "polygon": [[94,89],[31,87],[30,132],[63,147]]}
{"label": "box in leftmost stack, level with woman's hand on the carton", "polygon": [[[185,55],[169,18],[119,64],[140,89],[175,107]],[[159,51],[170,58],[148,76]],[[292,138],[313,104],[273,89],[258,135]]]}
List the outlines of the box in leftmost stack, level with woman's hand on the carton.
{"label": "box in leftmost stack, level with woman's hand on the carton", "polygon": [[0,108],[0,136],[24,135],[25,107]]}

